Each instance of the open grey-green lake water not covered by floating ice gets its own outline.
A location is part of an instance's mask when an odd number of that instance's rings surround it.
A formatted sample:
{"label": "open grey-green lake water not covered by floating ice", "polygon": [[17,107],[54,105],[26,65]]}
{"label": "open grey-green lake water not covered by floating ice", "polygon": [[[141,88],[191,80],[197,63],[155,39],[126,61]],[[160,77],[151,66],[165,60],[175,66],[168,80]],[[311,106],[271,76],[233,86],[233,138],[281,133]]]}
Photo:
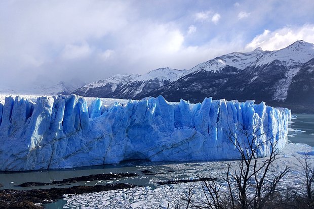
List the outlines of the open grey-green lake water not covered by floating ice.
{"label": "open grey-green lake water not covered by floating ice", "polygon": [[[289,123],[289,131],[288,131],[288,140],[293,143],[306,143],[310,146],[314,146],[314,114],[297,114],[297,118],[292,119]],[[156,185],[152,183],[151,178],[154,178],[154,182],[156,182],[156,178],[160,179],[160,181],[165,181],[165,176],[167,173],[172,172],[176,173],[175,177],[182,179],[188,178],[189,175],[186,175],[188,172],[180,171],[180,164],[184,164],[182,162],[167,162],[167,164],[172,164],[172,169],[169,171],[169,166],[166,166],[163,163],[151,163],[145,161],[137,161],[137,162],[124,162],[117,165],[104,165],[104,166],[93,166],[93,167],[84,167],[84,168],[75,168],[75,169],[64,169],[64,170],[51,170],[51,171],[34,171],[34,172],[0,172],[0,183],[4,186],[1,189],[36,189],[36,188],[52,188],[58,187],[58,185],[51,186],[36,186],[36,187],[17,187],[15,184],[21,184],[28,181],[35,182],[51,182],[54,180],[62,180],[71,177],[78,176],[88,176],[91,174],[101,174],[101,173],[136,173],[138,177],[131,177],[125,179],[117,179],[113,181],[101,182],[101,184],[111,184],[111,183],[131,183],[136,185],[145,185],[155,188]],[[176,169],[176,165],[178,168]],[[197,164],[195,164],[197,165]],[[159,176],[147,176],[141,173],[143,170],[150,170],[156,173],[165,173],[166,175]],[[199,169],[198,169],[199,170]],[[97,184],[97,181],[91,182],[76,182],[70,184],[68,186],[63,187],[71,187],[78,185],[88,185],[94,186]],[[47,204],[47,208],[62,208],[64,204],[64,200],[58,200],[55,203]]]}

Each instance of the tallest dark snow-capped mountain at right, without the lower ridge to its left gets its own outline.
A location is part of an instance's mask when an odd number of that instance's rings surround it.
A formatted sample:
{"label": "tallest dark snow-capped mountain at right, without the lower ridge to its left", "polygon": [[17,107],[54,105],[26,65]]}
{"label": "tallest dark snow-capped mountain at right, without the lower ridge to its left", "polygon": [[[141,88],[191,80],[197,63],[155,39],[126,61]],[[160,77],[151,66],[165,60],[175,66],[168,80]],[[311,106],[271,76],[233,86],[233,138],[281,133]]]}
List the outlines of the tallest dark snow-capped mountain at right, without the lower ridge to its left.
{"label": "tallest dark snow-capped mountain at right, without the lower ridge to its left", "polygon": [[[238,61],[235,61],[235,55]],[[313,87],[314,82],[309,81],[310,76],[304,77],[307,81],[299,82],[298,87],[291,85],[296,75],[304,75],[300,69],[305,68],[304,65],[313,58],[314,44],[305,41],[296,41],[276,51],[257,48],[250,53],[231,53],[197,65],[177,81],[154,89],[144,96],[161,94],[172,101],[184,98],[191,102],[200,102],[201,98],[209,96],[214,99],[255,99],[304,112],[300,108],[303,105],[296,105],[302,100],[292,102],[291,99],[286,99],[291,97],[289,91],[293,92],[288,89],[294,88],[294,92],[299,92],[302,88],[310,88],[304,86],[305,83]],[[215,65],[217,63],[221,63],[219,68]],[[311,106],[307,110],[314,112],[313,103],[306,106]]]}

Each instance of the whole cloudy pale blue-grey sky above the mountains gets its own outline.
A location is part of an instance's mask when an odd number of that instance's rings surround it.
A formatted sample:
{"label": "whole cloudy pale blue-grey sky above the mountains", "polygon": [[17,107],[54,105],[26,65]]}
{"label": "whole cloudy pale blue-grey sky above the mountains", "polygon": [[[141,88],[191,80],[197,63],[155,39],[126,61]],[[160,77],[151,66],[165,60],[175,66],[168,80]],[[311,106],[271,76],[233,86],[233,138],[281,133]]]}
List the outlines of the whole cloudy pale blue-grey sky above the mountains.
{"label": "whole cloudy pale blue-grey sky above the mountains", "polygon": [[314,43],[314,1],[0,1],[0,86],[190,69]]}

